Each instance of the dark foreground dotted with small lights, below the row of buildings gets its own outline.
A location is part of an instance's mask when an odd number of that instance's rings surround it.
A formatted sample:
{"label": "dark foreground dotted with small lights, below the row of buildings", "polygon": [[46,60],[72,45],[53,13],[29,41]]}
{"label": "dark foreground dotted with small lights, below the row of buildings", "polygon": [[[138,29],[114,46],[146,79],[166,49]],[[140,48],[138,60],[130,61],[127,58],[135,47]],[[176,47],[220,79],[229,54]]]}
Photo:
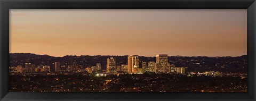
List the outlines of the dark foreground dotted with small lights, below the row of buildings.
{"label": "dark foreground dotted with small lights, below the row of buildings", "polygon": [[247,78],[179,74],[10,75],[11,92],[247,92]]}

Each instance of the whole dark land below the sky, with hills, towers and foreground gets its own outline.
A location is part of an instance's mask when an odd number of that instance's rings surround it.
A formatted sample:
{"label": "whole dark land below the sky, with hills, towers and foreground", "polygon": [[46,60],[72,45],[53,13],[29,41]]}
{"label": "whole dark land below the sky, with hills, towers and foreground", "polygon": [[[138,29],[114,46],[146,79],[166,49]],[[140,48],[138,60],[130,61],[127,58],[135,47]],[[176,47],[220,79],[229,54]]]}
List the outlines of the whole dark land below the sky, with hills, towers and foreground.
{"label": "whole dark land below the sky, with hills, towers and foreground", "polygon": [[11,53],[10,91],[246,92],[246,66],[246,55],[52,57]]}

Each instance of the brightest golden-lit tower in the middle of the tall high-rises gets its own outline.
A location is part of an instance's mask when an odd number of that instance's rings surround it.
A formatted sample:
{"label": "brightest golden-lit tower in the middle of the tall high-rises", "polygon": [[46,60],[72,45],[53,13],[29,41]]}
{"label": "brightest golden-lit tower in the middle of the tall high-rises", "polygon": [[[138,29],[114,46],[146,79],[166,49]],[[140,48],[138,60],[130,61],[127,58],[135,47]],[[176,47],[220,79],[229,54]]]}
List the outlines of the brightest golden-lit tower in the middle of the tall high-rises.
{"label": "brightest golden-lit tower in the middle of the tall high-rises", "polygon": [[128,72],[129,73],[137,73],[139,72],[139,65],[140,65],[140,60],[139,56],[128,56]]}

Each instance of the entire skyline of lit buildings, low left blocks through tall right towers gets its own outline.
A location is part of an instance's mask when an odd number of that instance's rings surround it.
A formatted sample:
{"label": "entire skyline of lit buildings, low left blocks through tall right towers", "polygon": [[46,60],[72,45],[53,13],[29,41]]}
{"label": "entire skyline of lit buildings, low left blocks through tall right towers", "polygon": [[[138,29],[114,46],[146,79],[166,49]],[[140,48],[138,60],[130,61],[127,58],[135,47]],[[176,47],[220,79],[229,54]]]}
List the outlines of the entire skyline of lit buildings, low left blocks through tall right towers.
{"label": "entire skyline of lit buildings, low left blocks through tall right towers", "polygon": [[107,58],[107,69],[102,70],[101,64],[82,69],[81,65],[70,64],[60,65],[60,62],[54,62],[54,68],[49,65],[37,66],[31,63],[25,63],[25,69],[22,65],[17,66],[17,73],[38,73],[38,72],[84,72],[89,73],[134,73],[142,74],[144,72],[159,73],[181,73],[185,74],[185,68],[177,68],[175,65],[168,62],[167,54],[156,55],[156,61],[144,62],[141,61],[138,55],[128,56],[127,64],[116,65],[116,58]]}

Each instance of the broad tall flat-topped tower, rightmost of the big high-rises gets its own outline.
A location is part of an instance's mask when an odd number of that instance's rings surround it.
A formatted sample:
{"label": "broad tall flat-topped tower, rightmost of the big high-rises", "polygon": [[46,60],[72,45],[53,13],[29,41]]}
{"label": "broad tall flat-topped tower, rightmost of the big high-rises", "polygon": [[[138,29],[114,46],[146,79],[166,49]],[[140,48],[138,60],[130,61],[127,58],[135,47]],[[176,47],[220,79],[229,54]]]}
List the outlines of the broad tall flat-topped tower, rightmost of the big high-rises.
{"label": "broad tall flat-topped tower, rightmost of the big high-rises", "polygon": [[168,55],[158,54],[156,55],[156,73],[169,73],[168,68]]}

